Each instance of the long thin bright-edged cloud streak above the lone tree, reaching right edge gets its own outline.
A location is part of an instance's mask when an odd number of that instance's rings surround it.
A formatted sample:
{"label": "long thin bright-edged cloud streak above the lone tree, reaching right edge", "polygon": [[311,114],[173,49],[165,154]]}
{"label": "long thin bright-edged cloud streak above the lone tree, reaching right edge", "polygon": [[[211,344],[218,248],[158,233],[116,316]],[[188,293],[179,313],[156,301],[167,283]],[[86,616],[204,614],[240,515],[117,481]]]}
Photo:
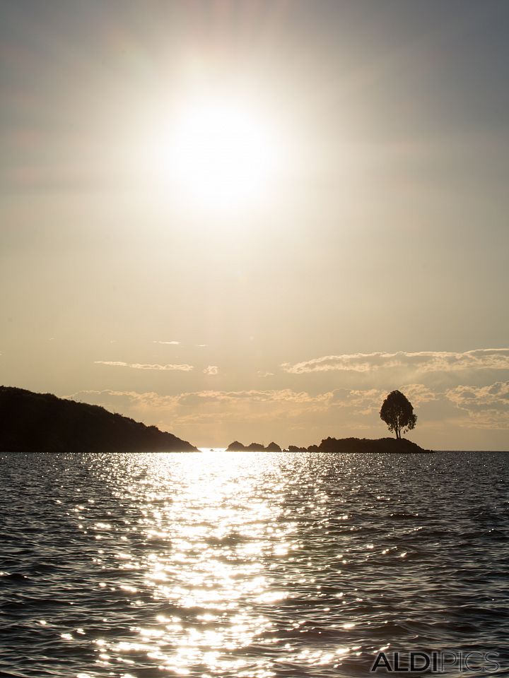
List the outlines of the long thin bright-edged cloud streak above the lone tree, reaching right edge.
{"label": "long thin bright-edged cloud streak above the lone tree, reaching right edge", "polygon": [[509,348],[485,348],[464,353],[423,351],[419,353],[353,353],[327,355],[296,364],[281,365],[288,374],[321,371],[370,372],[402,367],[419,372],[467,369],[509,369]]}

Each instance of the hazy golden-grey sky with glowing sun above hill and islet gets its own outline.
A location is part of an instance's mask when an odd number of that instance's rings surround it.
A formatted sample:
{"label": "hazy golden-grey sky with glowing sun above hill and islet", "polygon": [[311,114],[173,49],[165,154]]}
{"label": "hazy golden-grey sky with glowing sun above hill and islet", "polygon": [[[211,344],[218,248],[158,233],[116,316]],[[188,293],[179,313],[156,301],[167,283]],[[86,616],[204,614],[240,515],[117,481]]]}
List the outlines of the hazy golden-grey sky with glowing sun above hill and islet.
{"label": "hazy golden-grey sky with glowing sun above hill and islet", "polygon": [[211,447],[397,388],[509,450],[506,0],[0,12],[0,383]]}

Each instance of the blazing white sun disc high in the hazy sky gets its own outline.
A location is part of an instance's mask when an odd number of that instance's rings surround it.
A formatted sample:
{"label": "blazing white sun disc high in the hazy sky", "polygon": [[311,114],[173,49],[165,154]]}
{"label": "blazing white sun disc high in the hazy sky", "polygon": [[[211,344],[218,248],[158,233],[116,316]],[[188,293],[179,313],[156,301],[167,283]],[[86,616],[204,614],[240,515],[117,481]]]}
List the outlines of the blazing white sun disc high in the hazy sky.
{"label": "blazing white sun disc high in the hazy sky", "polygon": [[228,97],[180,107],[164,145],[177,197],[206,209],[264,201],[281,160],[267,117],[252,103]]}

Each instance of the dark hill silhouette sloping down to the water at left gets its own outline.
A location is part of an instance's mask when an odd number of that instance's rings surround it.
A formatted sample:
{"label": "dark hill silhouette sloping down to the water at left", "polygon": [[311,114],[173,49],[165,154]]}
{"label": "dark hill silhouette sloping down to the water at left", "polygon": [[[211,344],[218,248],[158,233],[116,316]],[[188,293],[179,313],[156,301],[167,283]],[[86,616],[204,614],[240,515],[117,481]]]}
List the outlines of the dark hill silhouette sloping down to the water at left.
{"label": "dark hill silhouette sloping down to the water at left", "polygon": [[76,403],[0,386],[0,450],[6,452],[193,452],[155,426]]}

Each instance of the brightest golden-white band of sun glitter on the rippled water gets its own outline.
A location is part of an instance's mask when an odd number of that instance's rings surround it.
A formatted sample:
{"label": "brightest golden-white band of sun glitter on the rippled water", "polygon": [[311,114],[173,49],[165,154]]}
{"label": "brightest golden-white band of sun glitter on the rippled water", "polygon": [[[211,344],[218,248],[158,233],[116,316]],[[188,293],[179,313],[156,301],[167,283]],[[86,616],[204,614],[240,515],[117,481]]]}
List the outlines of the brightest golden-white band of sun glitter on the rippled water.
{"label": "brightest golden-white band of sun glitter on the rippled water", "polygon": [[[192,667],[205,677],[274,675],[268,659],[259,657],[253,664],[241,653],[257,638],[274,642],[262,637],[274,626],[267,609],[287,593],[276,585],[271,566],[298,549],[296,523],[280,520],[285,518],[284,484],[277,468],[271,467],[270,487],[264,487],[262,459],[253,457],[246,473],[245,459],[239,464],[227,453],[209,453],[207,462],[212,455],[206,469],[152,455],[143,480],[128,487],[141,509],[137,524],[130,523],[131,535],[151,550],[140,560],[126,545],[116,554],[119,569],[142,573],[141,588],[165,612],[156,614],[150,626],[133,627],[135,640],[98,641],[100,665],[111,666],[113,658],[136,662],[146,655],[177,675],[189,674]],[[100,533],[111,524],[97,522],[93,528]],[[120,588],[134,597],[139,593],[131,585]]]}

